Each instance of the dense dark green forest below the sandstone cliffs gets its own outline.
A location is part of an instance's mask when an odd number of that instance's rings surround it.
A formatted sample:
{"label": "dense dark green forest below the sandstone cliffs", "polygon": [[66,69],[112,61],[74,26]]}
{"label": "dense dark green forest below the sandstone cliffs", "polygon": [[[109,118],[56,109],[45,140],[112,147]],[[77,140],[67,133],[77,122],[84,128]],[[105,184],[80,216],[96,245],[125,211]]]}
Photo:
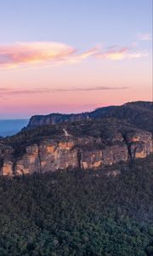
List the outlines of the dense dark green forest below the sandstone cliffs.
{"label": "dense dark green forest below the sandstone cliffs", "polygon": [[133,166],[0,177],[0,255],[151,256],[152,180],[152,155]]}

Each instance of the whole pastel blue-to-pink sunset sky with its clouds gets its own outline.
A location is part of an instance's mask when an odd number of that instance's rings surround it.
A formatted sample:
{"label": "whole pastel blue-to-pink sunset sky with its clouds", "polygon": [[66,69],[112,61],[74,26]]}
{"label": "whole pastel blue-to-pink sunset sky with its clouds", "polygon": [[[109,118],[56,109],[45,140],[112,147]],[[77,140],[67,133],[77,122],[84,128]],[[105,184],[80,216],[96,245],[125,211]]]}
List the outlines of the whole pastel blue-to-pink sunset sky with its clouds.
{"label": "whole pastel blue-to-pink sunset sky with its clouds", "polygon": [[152,100],[152,0],[0,0],[0,119]]}

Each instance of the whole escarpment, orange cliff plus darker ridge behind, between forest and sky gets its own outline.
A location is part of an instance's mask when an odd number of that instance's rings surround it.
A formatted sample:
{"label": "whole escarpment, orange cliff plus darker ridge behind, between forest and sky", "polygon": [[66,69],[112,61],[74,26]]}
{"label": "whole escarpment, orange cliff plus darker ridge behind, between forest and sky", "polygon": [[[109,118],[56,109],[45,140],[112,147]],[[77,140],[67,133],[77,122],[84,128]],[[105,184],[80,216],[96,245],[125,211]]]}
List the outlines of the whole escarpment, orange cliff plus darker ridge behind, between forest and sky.
{"label": "whole escarpment, orange cliff plus darker ridge behind, between forest and sky", "polygon": [[0,174],[86,170],[133,162],[152,153],[152,128],[152,102],[34,116],[13,137],[0,137]]}

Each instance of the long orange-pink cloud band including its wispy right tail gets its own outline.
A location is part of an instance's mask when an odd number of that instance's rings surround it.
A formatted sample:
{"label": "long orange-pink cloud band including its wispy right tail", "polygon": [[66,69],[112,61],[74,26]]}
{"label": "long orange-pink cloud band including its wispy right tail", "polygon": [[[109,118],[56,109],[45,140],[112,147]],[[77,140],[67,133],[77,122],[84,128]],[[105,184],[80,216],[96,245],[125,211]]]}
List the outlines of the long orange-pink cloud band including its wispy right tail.
{"label": "long orange-pink cloud band including its wispy right tail", "polygon": [[67,44],[54,42],[32,42],[0,45],[0,67],[29,67],[31,65],[77,63],[90,56],[118,61],[146,56],[144,51],[136,51],[128,47],[111,47],[107,50],[89,49],[78,53],[77,49]]}

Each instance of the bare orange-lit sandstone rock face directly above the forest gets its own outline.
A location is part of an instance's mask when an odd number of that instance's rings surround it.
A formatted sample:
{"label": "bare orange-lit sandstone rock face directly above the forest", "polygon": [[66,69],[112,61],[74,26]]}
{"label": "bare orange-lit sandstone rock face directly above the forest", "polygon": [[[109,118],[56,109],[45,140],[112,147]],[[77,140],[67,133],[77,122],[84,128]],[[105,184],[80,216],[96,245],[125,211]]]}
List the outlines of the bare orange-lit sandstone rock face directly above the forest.
{"label": "bare orange-lit sandstone rock face directly above the forest", "polygon": [[99,168],[128,159],[144,158],[153,151],[151,133],[115,132],[111,139],[99,137],[55,137],[26,146],[20,156],[14,147],[0,143],[0,174],[21,175],[54,172],[66,168]]}

